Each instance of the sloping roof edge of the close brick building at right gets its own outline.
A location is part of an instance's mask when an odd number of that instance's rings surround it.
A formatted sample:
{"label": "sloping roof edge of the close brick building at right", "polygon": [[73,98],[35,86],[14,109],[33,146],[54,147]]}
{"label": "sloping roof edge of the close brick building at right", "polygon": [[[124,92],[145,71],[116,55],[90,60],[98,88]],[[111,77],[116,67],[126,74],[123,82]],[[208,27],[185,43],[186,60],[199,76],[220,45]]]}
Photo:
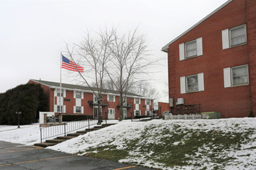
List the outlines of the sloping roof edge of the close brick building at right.
{"label": "sloping roof edge of the close brick building at right", "polygon": [[179,35],[178,37],[176,37],[175,39],[173,39],[171,42],[169,42],[168,44],[166,44],[165,46],[162,47],[161,51],[164,51],[166,53],[168,53],[168,48],[169,46],[175,42],[176,40],[178,40],[179,38],[181,38],[182,36],[184,36],[186,33],[188,33],[189,31],[191,31],[192,29],[194,29],[196,26],[199,26],[200,23],[204,22],[206,19],[208,19],[210,16],[212,16],[213,14],[215,14],[216,12],[218,12],[221,8],[223,8],[224,6],[228,5],[230,2],[232,2],[233,0],[229,0],[227,2],[225,2],[223,5],[221,5],[219,8],[216,8],[213,12],[211,12],[209,15],[206,15],[205,18],[201,19],[199,22],[197,22],[194,26],[190,27],[189,29],[187,29],[185,32],[183,32],[181,35]]}

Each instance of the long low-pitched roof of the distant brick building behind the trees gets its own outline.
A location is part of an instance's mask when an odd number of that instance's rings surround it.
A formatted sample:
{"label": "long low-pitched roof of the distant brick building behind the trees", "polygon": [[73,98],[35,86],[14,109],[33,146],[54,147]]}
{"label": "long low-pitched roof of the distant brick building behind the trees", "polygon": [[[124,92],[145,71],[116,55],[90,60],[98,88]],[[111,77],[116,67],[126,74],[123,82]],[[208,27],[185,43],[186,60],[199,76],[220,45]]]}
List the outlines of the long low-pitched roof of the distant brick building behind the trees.
{"label": "long low-pitched roof of the distant brick building behind the trees", "polygon": [[[60,83],[57,83],[57,82],[51,82],[51,81],[45,81],[45,80],[31,80],[31,81],[43,84],[44,86],[50,87],[51,89],[60,88]],[[85,87],[85,86],[81,86],[81,85],[74,85],[74,84],[68,84],[68,83],[61,83],[61,87],[66,90],[82,90],[82,91],[86,91],[89,93],[92,93],[92,90],[97,91],[96,87]],[[117,90],[103,89],[102,93],[112,93],[112,94],[119,95],[119,91],[117,91]],[[127,93],[126,95],[129,97],[148,98],[148,97],[140,96],[136,93]]]}

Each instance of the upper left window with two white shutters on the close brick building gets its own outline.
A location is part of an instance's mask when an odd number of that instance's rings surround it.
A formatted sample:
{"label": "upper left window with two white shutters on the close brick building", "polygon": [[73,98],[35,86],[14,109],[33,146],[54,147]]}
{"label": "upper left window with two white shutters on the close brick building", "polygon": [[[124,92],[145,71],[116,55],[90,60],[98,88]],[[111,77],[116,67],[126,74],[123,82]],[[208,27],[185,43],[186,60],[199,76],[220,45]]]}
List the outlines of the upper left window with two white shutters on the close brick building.
{"label": "upper left window with two white shutters on the close brick building", "polygon": [[179,60],[202,56],[202,37],[179,44]]}

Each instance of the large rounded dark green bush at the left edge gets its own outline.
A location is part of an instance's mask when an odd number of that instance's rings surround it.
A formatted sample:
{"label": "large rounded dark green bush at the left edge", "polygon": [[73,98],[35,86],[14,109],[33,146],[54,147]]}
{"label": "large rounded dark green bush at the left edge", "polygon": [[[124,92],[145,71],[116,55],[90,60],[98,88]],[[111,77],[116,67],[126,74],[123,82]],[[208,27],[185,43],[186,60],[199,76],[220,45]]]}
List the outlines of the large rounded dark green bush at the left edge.
{"label": "large rounded dark green bush at the left edge", "polygon": [[47,110],[47,97],[40,85],[19,85],[0,94],[0,124],[31,124],[39,118],[39,111]]}

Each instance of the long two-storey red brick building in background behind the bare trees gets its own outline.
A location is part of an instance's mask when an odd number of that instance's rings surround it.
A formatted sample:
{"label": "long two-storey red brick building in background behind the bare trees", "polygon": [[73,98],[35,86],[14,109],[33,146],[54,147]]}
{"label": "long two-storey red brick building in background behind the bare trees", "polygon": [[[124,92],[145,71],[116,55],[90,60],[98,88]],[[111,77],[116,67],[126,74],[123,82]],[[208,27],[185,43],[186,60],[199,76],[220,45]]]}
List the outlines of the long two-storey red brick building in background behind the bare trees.
{"label": "long two-storey red brick building in background behind the bare trees", "polygon": [[[60,97],[60,83],[29,80],[29,83],[40,84],[47,95],[48,111],[58,114],[60,111],[60,100],[63,114],[88,115],[98,117],[98,104],[95,95],[89,87],[62,83],[62,97]],[[154,100],[142,97],[134,93],[127,93],[126,102],[123,107],[123,117],[151,115]],[[119,118],[119,93],[116,90],[103,90],[102,116],[108,119]]]}

